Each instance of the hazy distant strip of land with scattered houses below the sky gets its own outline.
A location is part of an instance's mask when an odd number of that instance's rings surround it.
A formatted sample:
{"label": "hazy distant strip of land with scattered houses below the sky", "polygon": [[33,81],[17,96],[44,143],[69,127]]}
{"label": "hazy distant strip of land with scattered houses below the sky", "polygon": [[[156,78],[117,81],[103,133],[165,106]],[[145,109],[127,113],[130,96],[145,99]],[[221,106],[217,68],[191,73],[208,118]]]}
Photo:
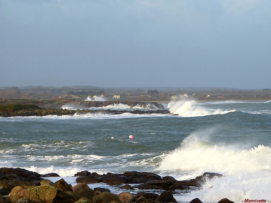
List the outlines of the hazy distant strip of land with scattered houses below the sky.
{"label": "hazy distant strip of land with scattered houses below the sky", "polygon": [[233,88],[100,88],[73,87],[2,87],[2,99],[170,101],[179,97],[193,100],[270,100],[271,89],[242,90]]}

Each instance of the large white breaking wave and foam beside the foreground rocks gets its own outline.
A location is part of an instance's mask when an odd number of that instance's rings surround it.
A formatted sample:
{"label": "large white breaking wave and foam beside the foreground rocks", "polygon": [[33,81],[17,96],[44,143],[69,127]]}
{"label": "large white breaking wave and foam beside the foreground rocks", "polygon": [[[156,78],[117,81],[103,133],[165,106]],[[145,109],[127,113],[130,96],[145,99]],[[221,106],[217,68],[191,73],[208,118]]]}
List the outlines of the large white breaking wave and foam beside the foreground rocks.
{"label": "large white breaking wave and foam beside the foreground rocks", "polygon": [[161,161],[160,171],[186,171],[179,180],[187,180],[204,172],[223,174],[207,181],[203,189],[180,195],[177,201],[189,202],[198,197],[203,202],[217,202],[228,198],[234,202],[249,199],[270,199],[271,147],[258,145],[221,146],[210,143],[211,138],[191,134],[181,146]]}

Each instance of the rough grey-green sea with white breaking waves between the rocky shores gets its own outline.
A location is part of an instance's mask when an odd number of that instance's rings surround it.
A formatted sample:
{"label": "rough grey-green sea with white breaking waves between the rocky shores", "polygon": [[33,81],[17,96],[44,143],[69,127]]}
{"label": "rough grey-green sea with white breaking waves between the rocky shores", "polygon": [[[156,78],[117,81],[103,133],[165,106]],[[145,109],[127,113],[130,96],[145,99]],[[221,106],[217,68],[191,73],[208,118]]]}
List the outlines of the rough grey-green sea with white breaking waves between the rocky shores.
{"label": "rough grey-green sea with white breaking waves between the rocky shores", "polygon": [[[222,198],[240,203],[271,201],[271,100],[179,98],[163,106],[172,114],[0,117],[0,167],[57,173],[72,185],[74,174],[84,170],[98,174],[147,171],[176,180],[215,172],[223,177],[208,180],[201,189],[175,191],[174,198],[180,203],[194,198],[204,203]],[[72,105],[63,108],[73,109]],[[101,108],[156,110],[151,104]],[[104,183],[89,186],[126,192]]]}

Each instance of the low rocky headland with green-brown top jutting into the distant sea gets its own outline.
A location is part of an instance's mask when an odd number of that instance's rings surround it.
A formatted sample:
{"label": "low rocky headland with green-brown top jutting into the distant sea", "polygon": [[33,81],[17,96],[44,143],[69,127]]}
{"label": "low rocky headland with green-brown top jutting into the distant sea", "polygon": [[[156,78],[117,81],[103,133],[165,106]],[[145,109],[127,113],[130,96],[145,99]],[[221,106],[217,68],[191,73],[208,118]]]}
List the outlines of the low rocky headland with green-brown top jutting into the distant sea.
{"label": "low rocky headland with green-brown top jutting into the distant sea", "polygon": [[[99,109],[91,110],[91,107],[105,107],[109,105],[125,104],[130,108],[138,106],[141,108],[158,108],[156,110],[111,110]],[[71,106],[73,109],[65,109],[63,106]],[[62,108],[61,108],[62,107]],[[132,102],[132,101],[79,101],[69,99],[54,99],[54,100],[0,100],[0,116],[45,116],[45,115],[75,115],[88,113],[101,114],[169,114],[168,110],[163,109],[164,106],[156,102]]]}

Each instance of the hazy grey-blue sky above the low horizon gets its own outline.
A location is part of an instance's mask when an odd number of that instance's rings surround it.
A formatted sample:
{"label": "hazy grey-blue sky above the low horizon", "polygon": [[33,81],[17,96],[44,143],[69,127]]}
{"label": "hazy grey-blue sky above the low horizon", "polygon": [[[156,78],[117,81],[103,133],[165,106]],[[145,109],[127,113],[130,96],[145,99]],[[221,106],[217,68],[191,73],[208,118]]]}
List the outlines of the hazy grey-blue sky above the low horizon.
{"label": "hazy grey-blue sky above the low horizon", "polygon": [[0,87],[271,88],[270,0],[0,0]]}

